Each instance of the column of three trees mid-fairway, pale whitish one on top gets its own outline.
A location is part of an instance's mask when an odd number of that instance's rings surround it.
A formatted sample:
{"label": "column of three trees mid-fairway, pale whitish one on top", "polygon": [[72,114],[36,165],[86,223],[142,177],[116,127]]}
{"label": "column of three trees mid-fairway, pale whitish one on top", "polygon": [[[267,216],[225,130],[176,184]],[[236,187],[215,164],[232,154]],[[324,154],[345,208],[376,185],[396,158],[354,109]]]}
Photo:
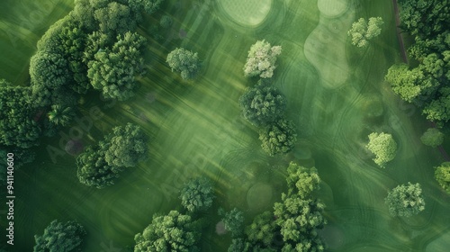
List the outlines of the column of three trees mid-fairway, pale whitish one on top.
{"label": "column of three trees mid-fairway, pale whitish one on top", "polygon": [[261,147],[269,156],[287,153],[297,142],[293,121],[284,118],[286,98],[268,79],[274,74],[276,57],[281,49],[280,46],[271,47],[266,40],[258,40],[251,46],[244,73],[261,78],[239,98],[244,117],[260,128]]}

